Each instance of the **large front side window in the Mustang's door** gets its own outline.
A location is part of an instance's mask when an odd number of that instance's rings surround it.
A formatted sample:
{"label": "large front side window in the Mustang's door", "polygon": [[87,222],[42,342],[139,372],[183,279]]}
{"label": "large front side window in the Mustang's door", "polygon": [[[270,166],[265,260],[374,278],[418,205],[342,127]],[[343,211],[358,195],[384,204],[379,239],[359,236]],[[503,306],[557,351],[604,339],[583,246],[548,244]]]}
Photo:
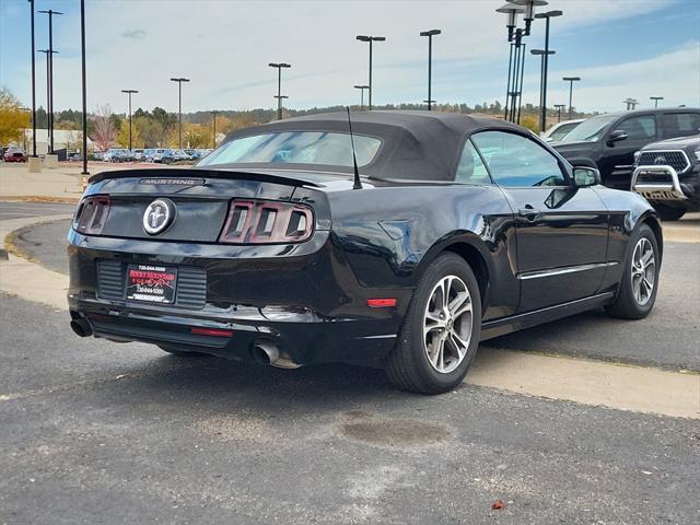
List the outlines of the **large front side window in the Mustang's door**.
{"label": "large front side window in the Mustang's door", "polygon": [[564,186],[559,161],[537,142],[504,131],[482,131],[471,140],[501,186]]}

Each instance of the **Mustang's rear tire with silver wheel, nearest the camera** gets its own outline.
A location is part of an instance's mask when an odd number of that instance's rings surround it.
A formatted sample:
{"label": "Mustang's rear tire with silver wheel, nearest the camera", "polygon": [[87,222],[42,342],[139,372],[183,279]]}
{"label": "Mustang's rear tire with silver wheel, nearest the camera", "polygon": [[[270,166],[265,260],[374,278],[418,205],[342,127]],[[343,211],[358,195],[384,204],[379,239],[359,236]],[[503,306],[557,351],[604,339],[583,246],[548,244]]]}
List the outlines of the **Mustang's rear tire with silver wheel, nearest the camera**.
{"label": "Mustang's rear tire with silver wheel, nearest the camera", "polygon": [[[454,303],[467,292],[467,296],[463,296],[464,302],[450,308],[450,314],[441,308],[445,284],[448,287],[448,302],[452,298]],[[467,304],[470,310],[467,310]],[[442,313],[442,319],[438,312]],[[477,279],[462,257],[443,254],[421,277],[399,339],[384,359],[384,370],[389,381],[402,390],[418,394],[452,390],[467,374],[477,353],[480,334],[481,296]],[[456,350],[456,345],[462,351]]]}

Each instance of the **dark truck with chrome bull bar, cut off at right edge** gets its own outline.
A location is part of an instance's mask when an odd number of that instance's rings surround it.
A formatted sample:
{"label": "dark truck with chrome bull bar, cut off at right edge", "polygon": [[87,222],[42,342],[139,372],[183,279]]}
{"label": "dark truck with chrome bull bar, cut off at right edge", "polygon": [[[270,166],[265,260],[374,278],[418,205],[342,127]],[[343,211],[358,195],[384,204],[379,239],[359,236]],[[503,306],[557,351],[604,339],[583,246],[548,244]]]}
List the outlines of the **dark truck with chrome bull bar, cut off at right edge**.
{"label": "dark truck with chrome bull bar, cut off at right edge", "polygon": [[632,191],[676,221],[700,210],[700,135],[646,144],[635,154]]}

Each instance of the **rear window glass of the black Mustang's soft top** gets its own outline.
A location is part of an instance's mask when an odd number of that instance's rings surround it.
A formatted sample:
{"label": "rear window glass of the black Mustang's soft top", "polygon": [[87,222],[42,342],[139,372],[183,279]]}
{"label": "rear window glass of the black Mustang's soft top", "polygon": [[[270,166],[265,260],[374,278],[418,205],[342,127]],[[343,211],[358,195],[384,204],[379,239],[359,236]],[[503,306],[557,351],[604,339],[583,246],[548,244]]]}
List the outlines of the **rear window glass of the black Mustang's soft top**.
{"label": "rear window glass of the black Mustang's soft top", "polygon": [[[382,141],[354,136],[358,165],[372,162]],[[323,164],[352,166],[350,136],[328,131],[281,131],[242,137],[226,142],[198,165],[230,163]]]}

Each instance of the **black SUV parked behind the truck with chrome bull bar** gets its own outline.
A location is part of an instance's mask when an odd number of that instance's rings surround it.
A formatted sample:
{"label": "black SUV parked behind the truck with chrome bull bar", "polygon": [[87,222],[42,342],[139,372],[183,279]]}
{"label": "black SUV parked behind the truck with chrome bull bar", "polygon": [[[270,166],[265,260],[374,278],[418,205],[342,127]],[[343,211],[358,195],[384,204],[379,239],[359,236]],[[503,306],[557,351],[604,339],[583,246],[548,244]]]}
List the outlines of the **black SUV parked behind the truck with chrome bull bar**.
{"label": "black SUV parked behind the truck with chrome bull bar", "polygon": [[608,113],[581,122],[553,148],[574,166],[598,168],[606,186],[629,190],[634,152],[651,142],[696,135],[698,129],[698,108]]}

